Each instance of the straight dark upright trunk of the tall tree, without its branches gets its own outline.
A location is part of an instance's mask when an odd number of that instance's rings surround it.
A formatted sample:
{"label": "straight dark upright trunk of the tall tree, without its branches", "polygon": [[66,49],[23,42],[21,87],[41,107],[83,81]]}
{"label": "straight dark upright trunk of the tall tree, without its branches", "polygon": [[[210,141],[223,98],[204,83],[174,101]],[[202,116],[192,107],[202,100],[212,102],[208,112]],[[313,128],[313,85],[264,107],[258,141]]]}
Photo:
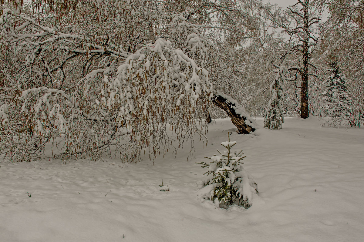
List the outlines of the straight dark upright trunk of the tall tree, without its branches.
{"label": "straight dark upright trunk of the tall tree, without its branches", "polygon": [[301,73],[301,118],[308,118],[308,44],[309,44],[309,29],[308,29],[308,4],[309,0],[304,0],[303,7],[303,28],[305,31],[305,36],[303,40],[303,58],[302,58],[302,73]]}

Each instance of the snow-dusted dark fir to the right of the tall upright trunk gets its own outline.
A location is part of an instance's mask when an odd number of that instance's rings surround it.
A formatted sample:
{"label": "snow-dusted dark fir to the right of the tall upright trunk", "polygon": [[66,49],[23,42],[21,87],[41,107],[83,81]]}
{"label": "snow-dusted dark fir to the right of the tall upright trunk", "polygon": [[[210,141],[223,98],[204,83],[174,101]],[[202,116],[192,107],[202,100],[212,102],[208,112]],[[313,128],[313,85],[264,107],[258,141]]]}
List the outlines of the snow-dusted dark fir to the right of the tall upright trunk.
{"label": "snow-dusted dark fir to the right of the tall upright trunk", "polygon": [[349,95],[347,94],[347,78],[341,74],[335,63],[331,63],[331,76],[324,84],[326,90],[323,92],[323,112],[327,117],[324,124],[331,126],[340,126],[344,120],[351,124],[351,108]]}

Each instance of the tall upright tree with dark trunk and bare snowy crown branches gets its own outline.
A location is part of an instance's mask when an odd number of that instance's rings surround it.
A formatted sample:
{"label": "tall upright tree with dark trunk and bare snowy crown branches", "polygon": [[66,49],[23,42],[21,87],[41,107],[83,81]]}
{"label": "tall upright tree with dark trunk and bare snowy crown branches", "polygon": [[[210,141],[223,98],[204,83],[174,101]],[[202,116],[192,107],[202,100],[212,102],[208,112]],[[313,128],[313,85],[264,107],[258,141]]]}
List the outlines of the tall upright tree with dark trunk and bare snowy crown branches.
{"label": "tall upright tree with dark trunk and bare snowy crown branches", "polygon": [[316,24],[320,21],[314,0],[298,0],[292,7],[285,11],[272,7],[266,7],[266,15],[281,29],[281,36],[287,40],[281,41],[278,66],[287,66],[296,80],[297,74],[301,77],[300,117],[309,116],[308,107],[308,81],[309,76],[315,75],[316,67],[310,62],[315,46],[320,35],[315,31]]}

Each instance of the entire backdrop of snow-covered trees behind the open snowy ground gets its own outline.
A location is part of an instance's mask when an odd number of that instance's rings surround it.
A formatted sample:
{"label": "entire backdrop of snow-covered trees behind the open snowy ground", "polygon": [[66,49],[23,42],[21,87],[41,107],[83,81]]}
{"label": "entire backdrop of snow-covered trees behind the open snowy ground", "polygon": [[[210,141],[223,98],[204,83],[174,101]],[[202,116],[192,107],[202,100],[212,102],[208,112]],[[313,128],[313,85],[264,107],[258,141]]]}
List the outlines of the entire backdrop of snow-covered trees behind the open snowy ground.
{"label": "entire backdrop of snow-covered trees behind the open snowy ground", "polygon": [[2,0],[0,154],[193,151],[211,117],[253,132],[277,76],[283,116],[360,127],[363,14],[362,0]]}

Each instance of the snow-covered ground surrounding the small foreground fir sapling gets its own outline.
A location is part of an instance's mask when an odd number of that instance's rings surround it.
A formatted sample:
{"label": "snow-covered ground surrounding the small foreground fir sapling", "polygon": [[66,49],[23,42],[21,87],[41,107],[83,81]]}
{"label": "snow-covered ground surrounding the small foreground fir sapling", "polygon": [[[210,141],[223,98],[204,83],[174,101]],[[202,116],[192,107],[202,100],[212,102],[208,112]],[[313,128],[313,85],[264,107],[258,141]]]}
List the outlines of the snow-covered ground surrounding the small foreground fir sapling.
{"label": "snow-covered ground surrounding the small foreground fir sapling", "polygon": [[223,148],[228,119],[210,124],[189,161],[187,150],[137,164],[0,163],[0,241],[363,241],[364,130],[285,121],[230,136],[260,192],[246,211],[197,196],[205,171],[195,162]]}

